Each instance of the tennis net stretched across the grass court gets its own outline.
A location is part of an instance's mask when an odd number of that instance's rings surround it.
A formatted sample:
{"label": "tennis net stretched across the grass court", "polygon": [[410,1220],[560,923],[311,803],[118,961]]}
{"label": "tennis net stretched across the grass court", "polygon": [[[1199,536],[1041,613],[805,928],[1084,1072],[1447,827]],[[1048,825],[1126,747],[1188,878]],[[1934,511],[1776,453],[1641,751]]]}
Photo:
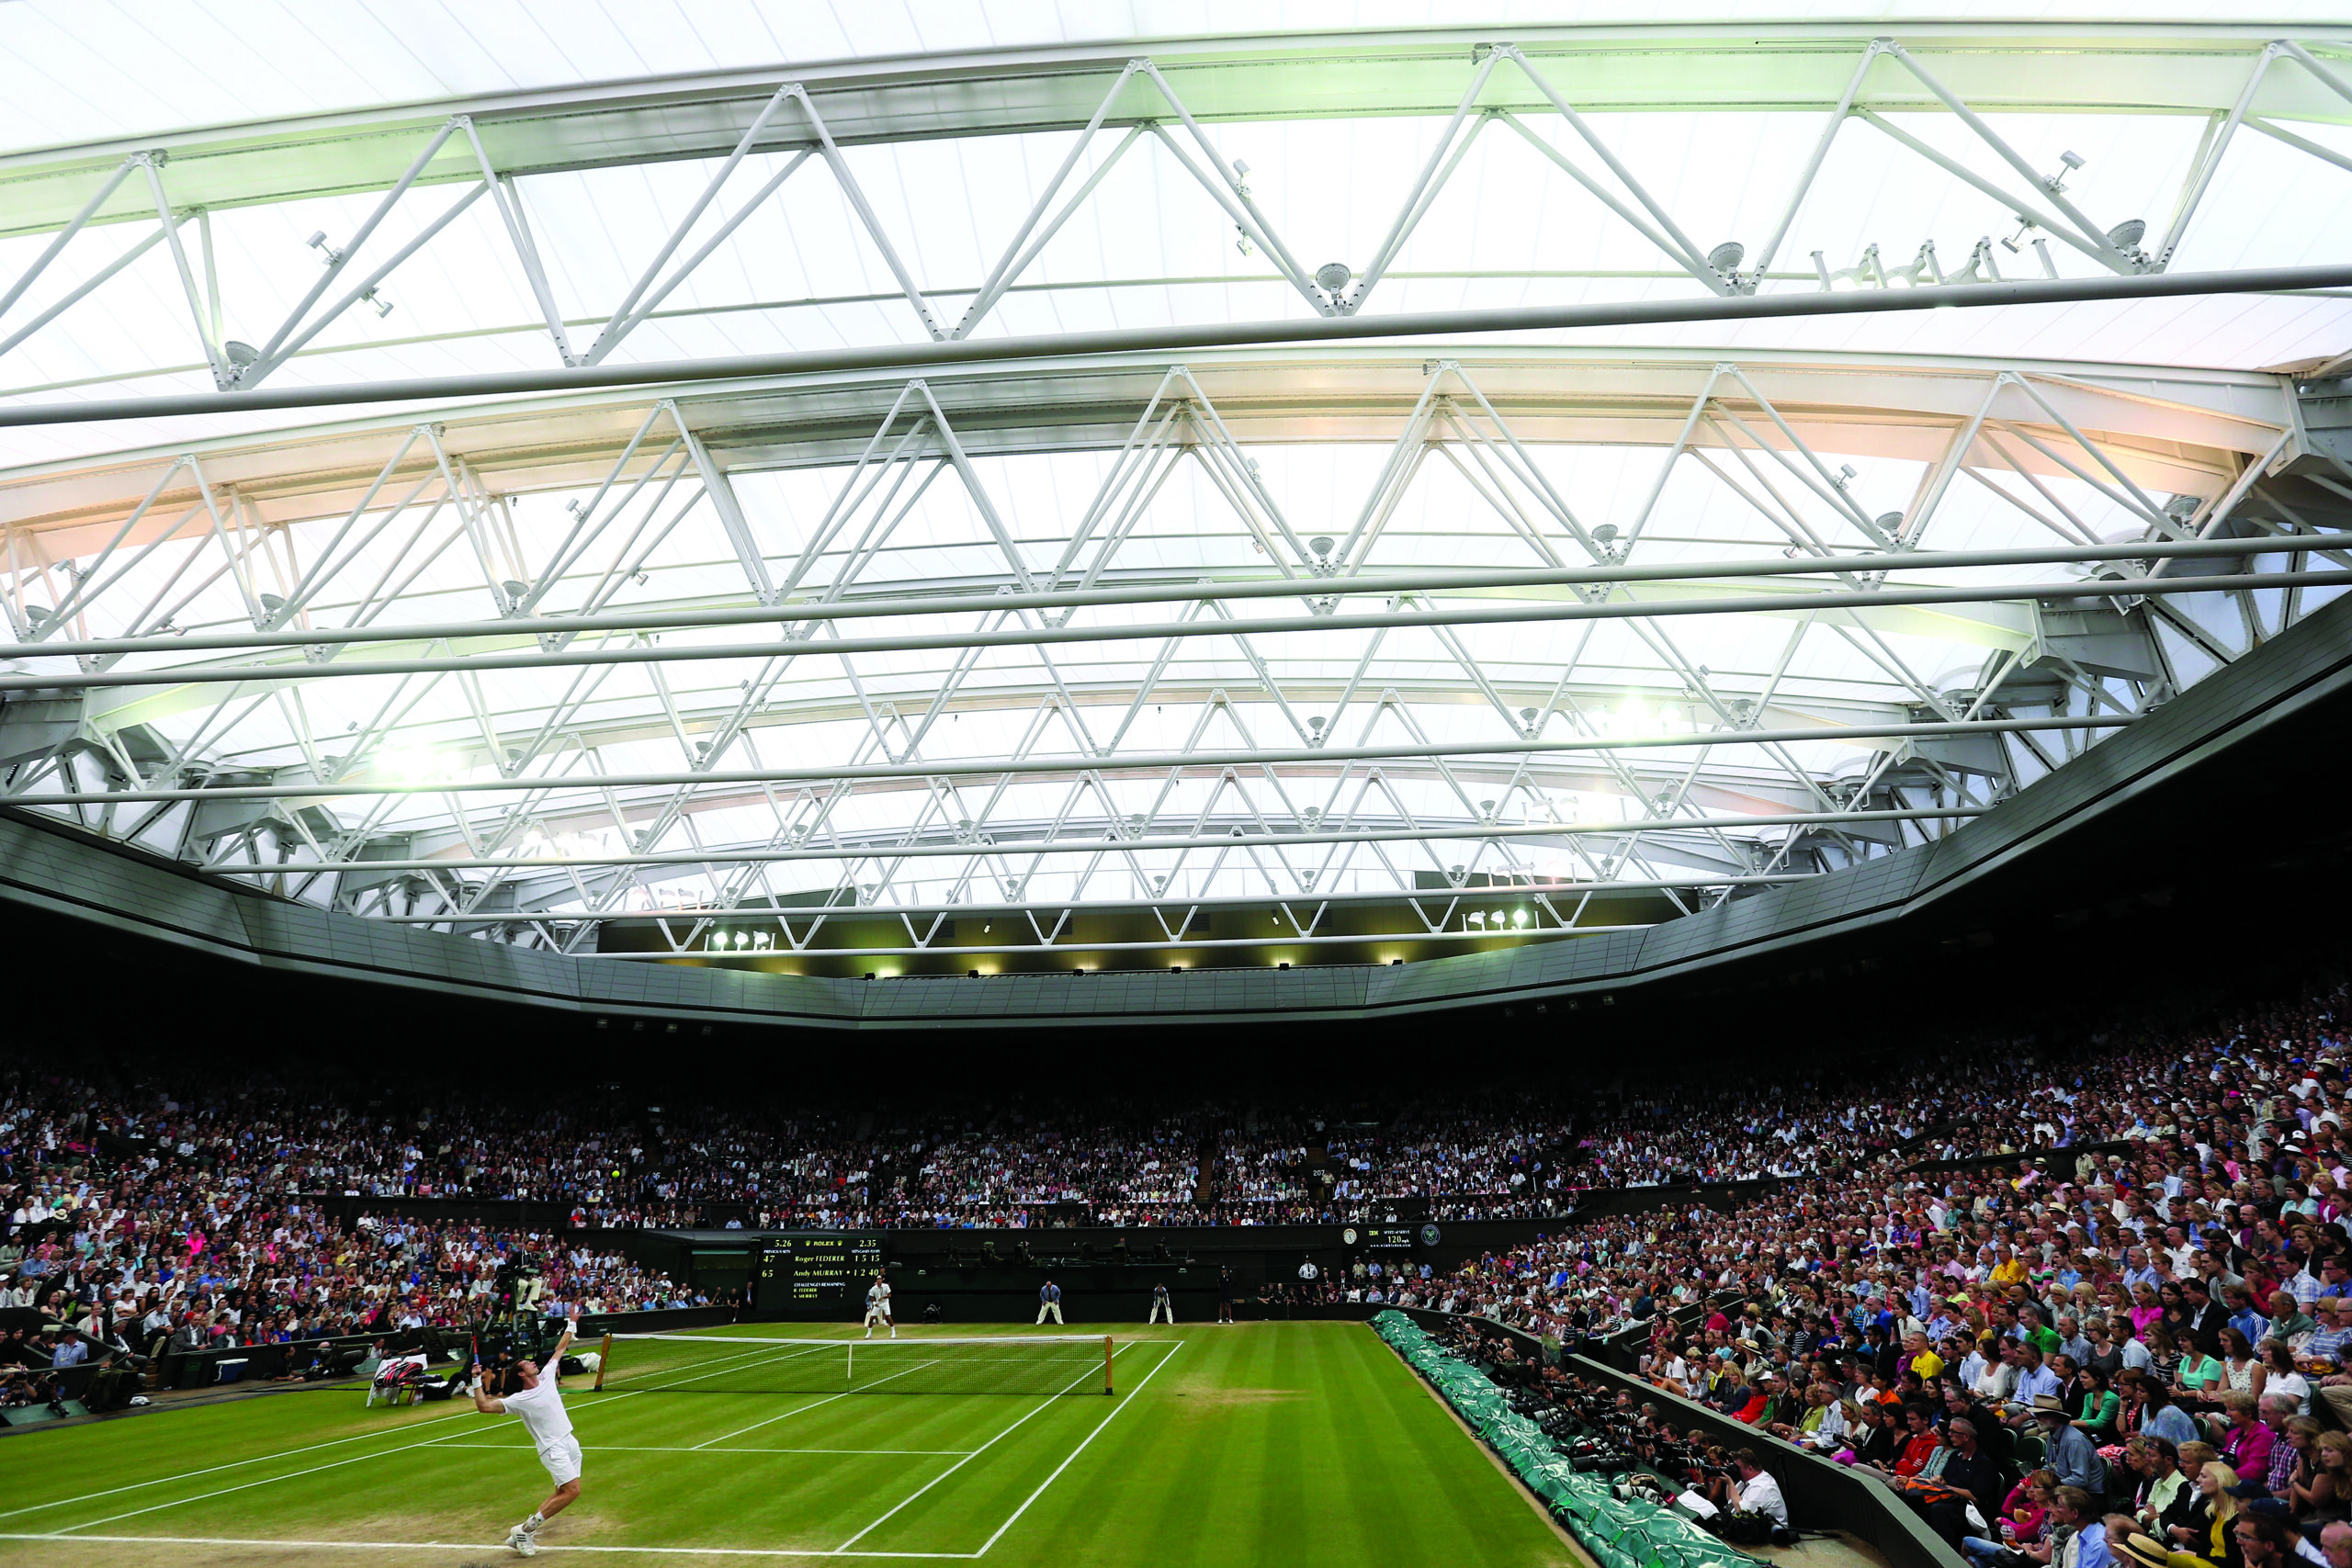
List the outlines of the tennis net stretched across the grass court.
{"label": "tennis net stretched across the grass court", "polygon": [[1108,1335],[767,1340],[616,1333],[600,1389],[637,1394],[1108,1394]]}

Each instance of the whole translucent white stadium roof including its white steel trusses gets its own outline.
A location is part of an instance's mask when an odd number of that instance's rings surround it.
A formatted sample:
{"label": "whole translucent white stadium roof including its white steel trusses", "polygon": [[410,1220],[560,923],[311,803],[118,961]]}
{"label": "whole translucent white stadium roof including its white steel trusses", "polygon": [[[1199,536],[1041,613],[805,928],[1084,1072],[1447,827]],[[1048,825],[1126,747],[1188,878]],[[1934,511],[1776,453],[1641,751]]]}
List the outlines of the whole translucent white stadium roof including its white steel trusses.
{"label": "whole translucent white stadium roof including its white steel trusses", "polygon": [[[1040,26],[5,120],[0,409],[2345,261],[2340,33]],[[2333,597],[2347,348],[2340,292],[2223,280],[14,428],[0,799],[574,954],[1663,919],[1933,839]]]}

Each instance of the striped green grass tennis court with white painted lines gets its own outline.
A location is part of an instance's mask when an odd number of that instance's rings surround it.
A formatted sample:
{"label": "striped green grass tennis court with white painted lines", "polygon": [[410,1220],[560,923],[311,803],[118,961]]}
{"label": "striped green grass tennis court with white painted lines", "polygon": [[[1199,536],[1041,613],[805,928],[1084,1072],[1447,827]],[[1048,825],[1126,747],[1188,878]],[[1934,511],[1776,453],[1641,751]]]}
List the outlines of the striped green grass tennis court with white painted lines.
{"label": "striped green grass tennis court with white painted lines", "polygon": [[[574,1563],[1583,1561],[1362,1324],[1108,1333],[1110,1399],[630,1389],[623,1347],[604,1392],[564,1380],[583,1497],[541,1549]],[[1096,1349],[1096,1389],[1098,1363]],[[499,1542],[546,1490],[513,1418],[294,1392],[0,1439],[0,1561],[508,1563]]]}

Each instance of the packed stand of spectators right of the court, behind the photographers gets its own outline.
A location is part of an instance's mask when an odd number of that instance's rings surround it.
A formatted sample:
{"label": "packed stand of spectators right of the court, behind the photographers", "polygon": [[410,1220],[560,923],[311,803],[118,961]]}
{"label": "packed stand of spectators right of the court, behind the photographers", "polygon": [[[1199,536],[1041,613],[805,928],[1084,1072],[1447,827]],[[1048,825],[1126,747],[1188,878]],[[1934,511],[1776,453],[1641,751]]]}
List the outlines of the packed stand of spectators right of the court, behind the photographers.
{"label": "packed stand of spectators right of the court, behind the photographers", "polygon": [[[2347,1018],[2331,985],[2093,1037],[1938,1107],[1950,1133],[1576,1225],[1430,1295],[1630,1331],[1649,1382],[1856,1465],[1976,1563],[2352,1566]],[[1962,1164],[1985,1140],[2018,1157]]]}

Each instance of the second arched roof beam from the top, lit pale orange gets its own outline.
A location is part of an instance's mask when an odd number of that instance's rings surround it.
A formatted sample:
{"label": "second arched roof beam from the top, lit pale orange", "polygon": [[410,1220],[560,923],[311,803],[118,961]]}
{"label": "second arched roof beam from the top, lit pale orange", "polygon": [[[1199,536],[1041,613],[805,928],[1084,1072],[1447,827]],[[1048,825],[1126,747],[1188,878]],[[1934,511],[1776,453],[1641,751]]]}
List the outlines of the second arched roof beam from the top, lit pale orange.
{"label": "second arched roof beam from the top, lit pale orange", "polygon": [[[1395,442],[1421,400],[1428,371],[1458,362],[1510,428],[1531,442],[1670,447],[1703,390],[1752,411],[1762,393],[1816,451],[1938,461],[1980,411],[2018,421],[2051,449],[2093,461],[2049,418],[2056,409],[2150,491],[2211,498],[2249,458],[2291,461],[2279,440],[2300,430],[2288,376],[2067,362],[1985,362],[1903,355],[1693,357],[1670,350],[1503,350],[1458,353],[1228,353],[1129,364],[1021,367],[997,374],[927,376],[971,456],[1033,451],[1115,451],[1136,428],[1171,364],[1190,369],[1235,440]],[[1745,376],[1717,371],[1736,364]],[[1999,376],[2023,376],[2049,404]],[[687,425],[729,473],[851,463],[873,440],[906,376],[842,376],[795,383],[696,388],[677,397]],[[1987,404],[1987,395],[1994,400]],[[470,463],[501,494],[600,484],[630,447],[649,409],[647,393],[546,397],[529,404],[442,409],[419,418],[343,421],[275,437],[219,437],[169,449],[122,451],[75,463],[0,470],[0,522],[42,534],[49,559],[103,548],[153,491],[160,468],[193,454],[219,489],[235,489],[270,524],[348,512],[390,468],[393,489],[433,473],[433,451],[414,440],[430,423],[452,458]],[[1783,433],[1755,423],[1766,444]],[[1719,447],[1726,437],[1693,430]],[[649,461],[647,454],[642,461]],[[2063,468],[2027,444],[2011,458],[2042,477]],[[640,465],[642,465],[640,461]],[[1997,461],[1978,454],[1976,461]],[[200,503],[193,475],[176,475],[146,529],[169,527]],[[136,548],[132,531],[120,541]]]}

